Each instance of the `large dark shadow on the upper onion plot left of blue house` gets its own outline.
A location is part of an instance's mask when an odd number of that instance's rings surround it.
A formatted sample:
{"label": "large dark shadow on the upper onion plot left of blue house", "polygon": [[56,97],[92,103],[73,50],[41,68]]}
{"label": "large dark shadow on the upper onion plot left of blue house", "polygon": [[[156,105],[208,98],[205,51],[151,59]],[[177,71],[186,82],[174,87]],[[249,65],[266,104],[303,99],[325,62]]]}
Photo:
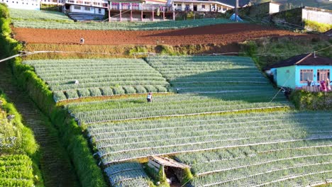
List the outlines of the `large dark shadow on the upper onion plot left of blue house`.
{"label": "large dark shadow on the upper onion plot left of blue house", "polygon": [[[195,59],[192,62],[194,63]],[[232,68],[235,66],[242,67]],[[228,69],[211,72],[209,66],[199,67],[199,69],[195,69],[195,65],[182,67],[172,72],[178,77],[168,79],[168,81],[177,94],[197,94],[225,101],[270,102],[277,94],[278,90],[252,64],[245,66],[236,62],[229,64],[225,62],[225,67]],[[195,71],[204,71],[204,68],[206,72],[194,74]],[[182,76],[187,72],[190,72],[191,75]],[[280,92],[273,101],[286,101],[286,98]]]}

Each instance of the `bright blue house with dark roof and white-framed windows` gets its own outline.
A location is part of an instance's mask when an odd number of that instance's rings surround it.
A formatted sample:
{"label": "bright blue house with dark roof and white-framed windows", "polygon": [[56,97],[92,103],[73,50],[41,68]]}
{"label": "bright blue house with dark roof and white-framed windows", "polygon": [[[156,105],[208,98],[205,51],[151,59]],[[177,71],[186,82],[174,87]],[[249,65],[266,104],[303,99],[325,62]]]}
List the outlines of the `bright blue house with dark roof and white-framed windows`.
{"label": "bright blue house with dark roof and white-framed windows", "polygon": [[297,55],[266,67],[265,72],[273,77],[277,86],[301,89],[308,81],[319,85],[321,80],[331,80],[332,59],[313,53]]}

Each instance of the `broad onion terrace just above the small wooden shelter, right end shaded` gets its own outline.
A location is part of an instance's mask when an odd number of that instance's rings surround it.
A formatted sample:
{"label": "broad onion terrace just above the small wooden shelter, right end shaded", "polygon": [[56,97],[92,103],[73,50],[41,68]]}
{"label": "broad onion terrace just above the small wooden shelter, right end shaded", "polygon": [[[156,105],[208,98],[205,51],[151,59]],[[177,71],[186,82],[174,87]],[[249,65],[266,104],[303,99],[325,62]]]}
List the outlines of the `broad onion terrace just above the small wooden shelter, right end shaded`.
{"label": "broad onion terrace just above the small wooden shelter, right end shaded", "polygon": [[[87,131],[103,164],[209,149],[332,139],[331,115],[245,113],[96,123]],[[299,146],[300,147],[300,146]]]}

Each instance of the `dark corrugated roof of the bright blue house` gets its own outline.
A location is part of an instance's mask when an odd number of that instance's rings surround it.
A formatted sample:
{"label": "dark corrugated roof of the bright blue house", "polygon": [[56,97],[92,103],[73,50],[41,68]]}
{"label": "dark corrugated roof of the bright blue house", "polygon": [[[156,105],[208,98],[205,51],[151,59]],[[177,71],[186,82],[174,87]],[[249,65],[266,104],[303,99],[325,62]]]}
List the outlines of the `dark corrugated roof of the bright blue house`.
{"label": "dark corrugated roof of the bright blue house", "polygon": [[287,60],[282,60],[280,62],[277,62],[276,64],[272,64],[269,67],[265,67],[265,69],[271,69],[271,68],[276,68],[276,67],[288,67],[288,66],[293,66],[293,65],[298,65],[298,66],[332,65],[332,59],[328,58],[328,57],[321,57],[318,55],[315,56],[312,53],[302,54],[302,55],[290,57]]}

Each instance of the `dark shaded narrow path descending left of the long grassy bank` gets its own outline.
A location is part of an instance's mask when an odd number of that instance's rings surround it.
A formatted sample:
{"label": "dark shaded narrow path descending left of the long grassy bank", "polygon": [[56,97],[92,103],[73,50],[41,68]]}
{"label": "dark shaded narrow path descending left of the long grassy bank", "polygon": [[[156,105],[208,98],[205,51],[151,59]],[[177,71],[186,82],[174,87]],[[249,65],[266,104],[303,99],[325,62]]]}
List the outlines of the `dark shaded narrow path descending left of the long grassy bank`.
{"label": "dark shaded narrow path descending left of the long grassy bank", "polygon": [[12,84],[13,75],[4,62],[0,63],[0,88],[21,113],[23,123],[33,130],[35,140],[42,154],[40,169],[43,172],[44,184],[52,186],[79,186],[70,159],[62,147],[57,130],[50,120],[35,106],[28,94]]}

